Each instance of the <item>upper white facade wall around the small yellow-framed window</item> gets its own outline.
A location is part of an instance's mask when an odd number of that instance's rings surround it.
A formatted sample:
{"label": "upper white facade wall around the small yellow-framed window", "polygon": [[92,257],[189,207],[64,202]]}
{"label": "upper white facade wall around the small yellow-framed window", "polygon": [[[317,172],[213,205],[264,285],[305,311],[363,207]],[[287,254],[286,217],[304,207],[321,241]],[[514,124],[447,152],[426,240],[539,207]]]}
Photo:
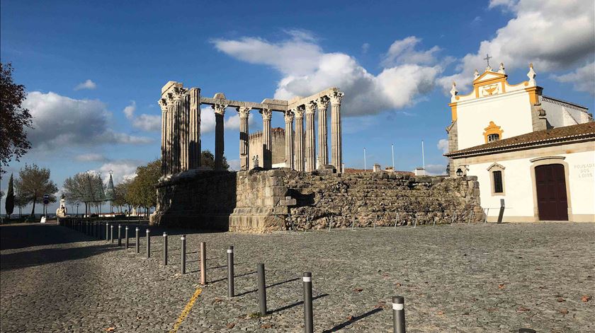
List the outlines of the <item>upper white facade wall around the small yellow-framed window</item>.
{"label": "upper white facade wall around the small yellow-framed window", "polygon": [[502,127],[502,139],[533,132],[531,102],[524,90],[459,103],[457,115],[458,149],[485,144],[489,122]]}

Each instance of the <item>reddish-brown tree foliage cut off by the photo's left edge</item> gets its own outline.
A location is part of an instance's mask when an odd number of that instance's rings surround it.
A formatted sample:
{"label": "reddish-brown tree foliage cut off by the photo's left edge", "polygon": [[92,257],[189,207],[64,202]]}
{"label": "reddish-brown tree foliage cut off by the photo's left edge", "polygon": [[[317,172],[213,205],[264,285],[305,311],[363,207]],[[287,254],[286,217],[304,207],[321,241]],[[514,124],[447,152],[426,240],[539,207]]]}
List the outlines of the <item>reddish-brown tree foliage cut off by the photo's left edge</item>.
{"label": "reddish-brown tree foliage cut off by the photo's left edge", "polygon": [[33,128],[29,110],[21,105],[25,86],[12,79],[12,65],[0,63],[0,176],[2,167],[13,158],[19,160],[30,148],[26,128]]}

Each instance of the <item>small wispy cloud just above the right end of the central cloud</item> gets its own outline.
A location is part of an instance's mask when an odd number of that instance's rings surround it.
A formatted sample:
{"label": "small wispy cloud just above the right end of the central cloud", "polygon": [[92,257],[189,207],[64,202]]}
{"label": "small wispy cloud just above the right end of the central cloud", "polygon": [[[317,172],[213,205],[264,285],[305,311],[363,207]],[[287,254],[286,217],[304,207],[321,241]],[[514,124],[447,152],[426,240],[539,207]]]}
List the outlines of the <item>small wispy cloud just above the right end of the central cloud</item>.
{"label": "small wispy cloud just above the right end of the central cloud", "polygon": [[434,64],[436,53],[440,47],[434,46],[426,51],[418,51],[415,47],[421,39],[409,36],[402,40],[395,40],[382,59],[383,66],[395,66],[400,64]]}

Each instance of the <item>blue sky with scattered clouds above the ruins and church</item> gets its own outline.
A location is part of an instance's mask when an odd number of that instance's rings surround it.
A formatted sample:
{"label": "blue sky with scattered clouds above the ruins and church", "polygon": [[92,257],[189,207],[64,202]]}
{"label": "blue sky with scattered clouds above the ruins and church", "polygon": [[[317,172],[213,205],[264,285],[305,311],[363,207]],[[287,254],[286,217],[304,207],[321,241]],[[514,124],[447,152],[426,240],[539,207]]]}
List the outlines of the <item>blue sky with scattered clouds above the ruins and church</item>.
{"label": "blue sky with scattered clouds above the ruins and church", "polygon": [[[591,0],[0,2],[0,59],[33,114],[26,163],[66,177],[113,170],[115,183],[159,158],[167,81],[232,100],[288,99],[339,87],[346,168],[421,166],[441,174],[453,81],[470,92],[485,54],[509,83],[532,62],[543,94],[594,109]],[[252,112],[250,132],[261,129]],[[203,149],[215,117],[203,112]],[[273,127],[284,127],[273,114]],[[239,166],[239,117],[225,112],[225,156]],[[4,199],[0,202],[4,214]],[[55,211],[57,206],[50,206]],[[36,209],[38,210],[38,209]],[[30,209],[26,209],[30,212]],[[39,212],[39,210],[38,210]]]}

